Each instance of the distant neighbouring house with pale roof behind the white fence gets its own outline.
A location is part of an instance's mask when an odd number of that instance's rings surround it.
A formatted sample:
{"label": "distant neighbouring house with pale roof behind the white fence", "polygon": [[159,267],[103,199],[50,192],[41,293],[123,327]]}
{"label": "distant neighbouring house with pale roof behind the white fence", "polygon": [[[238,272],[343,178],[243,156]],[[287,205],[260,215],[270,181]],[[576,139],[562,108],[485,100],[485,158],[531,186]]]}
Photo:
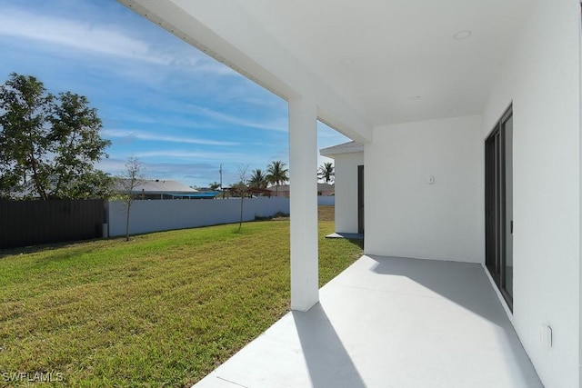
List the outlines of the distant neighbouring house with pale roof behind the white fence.
{"label": "distant neighbouring house with pale roof behind the white fence", "polygon": [[[123,193],[123,184],[117,183],[115,191]],[[196,189],[176,181],[165,181],[160,179],[142,180],[132,190],[135,199],[191,199],[206,198],[208,195],[200,195]],[[212,197],[214,198],[213,193]]]}

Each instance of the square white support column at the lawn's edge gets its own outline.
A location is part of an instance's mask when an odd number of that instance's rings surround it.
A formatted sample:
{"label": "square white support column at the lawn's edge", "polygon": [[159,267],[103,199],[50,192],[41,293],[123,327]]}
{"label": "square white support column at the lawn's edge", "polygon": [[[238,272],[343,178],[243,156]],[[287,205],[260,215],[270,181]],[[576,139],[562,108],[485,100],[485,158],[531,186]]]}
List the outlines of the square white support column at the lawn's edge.
{"label": "square white support column at the lawn's edge", "polygon": [[319,302],[316,172],[316,104],[290,100],[291,309],[298,311]]}

